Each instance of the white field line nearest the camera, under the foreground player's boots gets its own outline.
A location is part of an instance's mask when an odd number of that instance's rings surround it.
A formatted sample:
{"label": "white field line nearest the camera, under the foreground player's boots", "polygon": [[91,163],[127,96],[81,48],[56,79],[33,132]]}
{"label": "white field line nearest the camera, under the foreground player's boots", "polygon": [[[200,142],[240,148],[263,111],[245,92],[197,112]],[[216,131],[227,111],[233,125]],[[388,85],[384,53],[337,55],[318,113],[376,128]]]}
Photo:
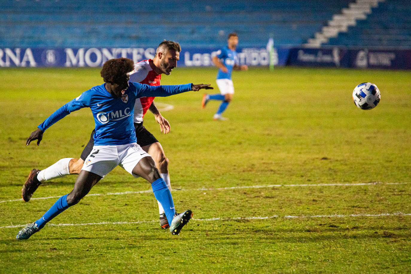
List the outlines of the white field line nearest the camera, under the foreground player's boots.
{"label": "white field line nearest the camera, under the foreground player's boots", "polygon": [[[333,214],[333,215],[312,215],[312,216],[267,216],[267,217],[234,217],[234,218],[210,218],[210,219],[192,219],[193,221],[233,221],[233,220],[266,220],[266,219],[275,219],[275,218],[283,218],[283,219],[311,219],[311,218],[349,218],[349,217],[386,217],[386,216],[411,216],[411,213],[382,213],[382,214]],[[158,220],[151,220],[151,221],[135,221],[135,222],[99,222],[99,223],[48,223],[48,226],[98,226],[98,225],[122,225],[122,224],[136,224],[136,223],[153,223],[158,222]],[[19,228],[24,227],[24,225],[11,225],[11,226],[0,226],[0,228]]]}

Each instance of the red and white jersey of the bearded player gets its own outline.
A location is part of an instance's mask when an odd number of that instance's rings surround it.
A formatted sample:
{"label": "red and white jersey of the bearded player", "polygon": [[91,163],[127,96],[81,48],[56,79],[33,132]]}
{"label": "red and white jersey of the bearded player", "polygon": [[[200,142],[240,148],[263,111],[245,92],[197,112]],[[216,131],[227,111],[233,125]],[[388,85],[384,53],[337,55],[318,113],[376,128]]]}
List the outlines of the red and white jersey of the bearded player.
{"label": "red and white jersey of the bearded player", "polygon": [[[150,66],[149,60],[143,60],[134,64],[134,70],[130,72],[130,81],[152,86],[160,85],[161,74],[157,74]],[[134,104],[134,122],[143,122],[144,114],[151,106],[155,97],[141,97]]]}

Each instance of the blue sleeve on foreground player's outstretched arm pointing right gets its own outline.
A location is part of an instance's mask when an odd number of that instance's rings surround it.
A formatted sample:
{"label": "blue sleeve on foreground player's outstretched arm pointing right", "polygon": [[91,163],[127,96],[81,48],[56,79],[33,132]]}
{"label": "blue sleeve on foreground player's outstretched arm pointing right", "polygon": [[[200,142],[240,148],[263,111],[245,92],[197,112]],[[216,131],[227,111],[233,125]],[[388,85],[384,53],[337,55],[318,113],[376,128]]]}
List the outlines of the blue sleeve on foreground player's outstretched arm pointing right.
{"label": "blue sleeve on foreground player's outstretched arm pointing right", "polygon": [[136,98],[140,97],[166,97],[174,94],[179,94],[182,92],[187,92],[192,90],[192,83],[185,85],[159,85],[151,86],[140,83],[132,83],[136,87]]}

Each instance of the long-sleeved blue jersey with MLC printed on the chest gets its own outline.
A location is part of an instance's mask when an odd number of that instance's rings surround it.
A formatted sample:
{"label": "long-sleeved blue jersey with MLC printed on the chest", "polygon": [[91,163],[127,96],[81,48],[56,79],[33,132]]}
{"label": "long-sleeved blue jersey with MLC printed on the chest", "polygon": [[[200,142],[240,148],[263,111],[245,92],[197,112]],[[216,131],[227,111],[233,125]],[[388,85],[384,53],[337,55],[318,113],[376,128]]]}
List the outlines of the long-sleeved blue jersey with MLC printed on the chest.
{"label": "long-sleeved blue jersey with MLC printed on the chest", "polygon": [[114,98],[105,84],[92,87],[69,101],[38,126],[43,132],[72,111],[89,107],[95,122],[95,145],[125,145],[137,141],[134,129],[134,102],[140,97],[165,97],[191,90],[185,85],[150,86],[129,82],[121,98]]}

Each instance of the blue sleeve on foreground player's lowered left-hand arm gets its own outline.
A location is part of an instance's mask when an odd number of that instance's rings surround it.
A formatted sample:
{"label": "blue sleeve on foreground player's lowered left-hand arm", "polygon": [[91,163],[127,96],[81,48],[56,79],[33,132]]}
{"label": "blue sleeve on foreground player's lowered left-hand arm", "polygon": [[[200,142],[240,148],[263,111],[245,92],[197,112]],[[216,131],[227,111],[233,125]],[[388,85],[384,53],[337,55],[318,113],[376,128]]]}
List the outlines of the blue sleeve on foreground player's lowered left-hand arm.
{"label": "blue sleeve on foreground player's lowered left-hand arm", "polygon": [[69,113],[73,111],[78,111],[80,108],[85,108],[90,106],[91,96],[88,92],[83,92],[79,97],[69,101],[64,106],[60,107],[57,111],[53,112],[44,122],[42,122],[38,128],[41,129],[43,132],[51,127],[52,124],[58,122]]}

